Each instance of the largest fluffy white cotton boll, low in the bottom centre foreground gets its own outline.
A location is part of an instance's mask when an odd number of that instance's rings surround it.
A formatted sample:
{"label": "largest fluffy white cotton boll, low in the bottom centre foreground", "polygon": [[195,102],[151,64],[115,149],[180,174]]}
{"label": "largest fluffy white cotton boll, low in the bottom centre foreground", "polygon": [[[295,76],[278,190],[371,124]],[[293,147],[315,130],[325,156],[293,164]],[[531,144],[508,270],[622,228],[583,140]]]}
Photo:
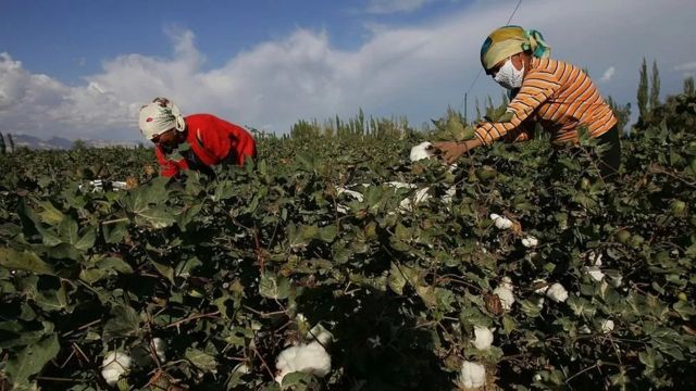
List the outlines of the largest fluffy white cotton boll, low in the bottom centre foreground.
{"label": "largest fluffy white cotton boll, low in the bottom centre foreground", "polygon": [[314,341],[285,349],[278,354],[275,367],[278,370],[275,377],[278,384],[283,384],[285,375],[296,371],[324,377],[331,371],[331,356],[324,346]]}

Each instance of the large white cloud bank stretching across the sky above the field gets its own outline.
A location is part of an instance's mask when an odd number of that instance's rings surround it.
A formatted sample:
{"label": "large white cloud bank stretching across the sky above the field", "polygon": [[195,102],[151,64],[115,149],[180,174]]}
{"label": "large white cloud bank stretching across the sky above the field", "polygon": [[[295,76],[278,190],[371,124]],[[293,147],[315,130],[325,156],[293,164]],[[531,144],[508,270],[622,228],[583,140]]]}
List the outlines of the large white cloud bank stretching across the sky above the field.
{"label": "large white cloud bank stretching across the sky above the field", "polygon": [[[100,73],[78,86],[32,74],[2,53],[0,124],[3,133],[40,137],[134,139],[139,106],[166,96],[185,113],[213,113],[278,133],[300,118],[347,116],[358,108],[369,115],[407,115],[418,126],[448,105],[461,108],[464,89],[480,72],[480,45],[507,21],[510,4],[476,2],[427,24],[383,25],[356,50],[337,49],[331,31],[297,29],[212,67],[203,67],[194,31],[172,28],[165,31],[171,56],[123,54],[104,61]],[[525,1],[512,22],[542,30],[552,56],[587,67],[591,75],[607,70],[606,77],[597,75],[611,79],[601,92],[620,102],[633,100],[643,56],[660,59],[670,70],[696,66],[696,47],[660,45],[687,34],[696,17],[693,0],[564,2],[563,14],[583,21],[577,24],[558,17],[559,7],[557,0]],[[666,92],[681,89],[681,75],[661,76]],[[501,92],[482,75],[469,96],[469,113],[474,97]]]}

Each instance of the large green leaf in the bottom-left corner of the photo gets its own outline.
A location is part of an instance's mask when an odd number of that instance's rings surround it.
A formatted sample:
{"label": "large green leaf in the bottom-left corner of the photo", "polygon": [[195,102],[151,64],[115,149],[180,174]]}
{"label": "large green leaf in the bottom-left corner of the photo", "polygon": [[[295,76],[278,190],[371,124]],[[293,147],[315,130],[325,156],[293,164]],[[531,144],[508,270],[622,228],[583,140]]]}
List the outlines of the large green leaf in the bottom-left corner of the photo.
{"label": "large green leaf in the bottom-left corner of the photo", "polygon": [[13,383],[14,390],[28,389],[30,378],[41,371],[44,366],[53,360],[60,351],[58,337],[50,337],[26,346],[15,357],[8,361],[4,371]]}

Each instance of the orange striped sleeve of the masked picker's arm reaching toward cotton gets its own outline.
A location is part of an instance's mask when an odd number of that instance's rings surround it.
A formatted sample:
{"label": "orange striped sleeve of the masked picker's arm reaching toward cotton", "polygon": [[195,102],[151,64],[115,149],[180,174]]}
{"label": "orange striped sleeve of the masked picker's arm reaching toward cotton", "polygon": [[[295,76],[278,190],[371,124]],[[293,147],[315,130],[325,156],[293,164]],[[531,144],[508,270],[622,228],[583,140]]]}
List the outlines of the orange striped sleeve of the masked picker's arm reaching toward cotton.
{"label": "orange striped sleeve of the masked picker's arm reaching toward cotton", "polygon": [[[483,143],[489,144],[513,130],[519,130],[532,113],[560,87],[560,83],[550,72],[543,70],[530,72],[522,83],[522,88],[508,105],[507,111],[512,113],[512,118],[509,122],[482,123],[475,128],[476,136]],[[529,139],[529,127],[527,130],[520,130],[515,137]]]}

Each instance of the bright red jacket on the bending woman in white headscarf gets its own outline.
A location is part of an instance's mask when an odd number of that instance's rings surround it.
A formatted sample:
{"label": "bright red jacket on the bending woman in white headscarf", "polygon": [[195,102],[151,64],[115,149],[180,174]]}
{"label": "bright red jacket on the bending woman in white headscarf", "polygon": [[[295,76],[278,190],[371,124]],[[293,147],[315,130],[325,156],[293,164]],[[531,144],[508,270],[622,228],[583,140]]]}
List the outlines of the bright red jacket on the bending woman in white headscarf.
{"label": "bright red jacket on the bending woman in white headscarf", "polygon": [[[231,124],[210,114],[192,114],[186,119],[186,142],[200,163],[212,166],[228,160],[244,165],[247,156],[254,157],[257,143],[241,126]],[[162,176],[173,177],[182,169],[188,169],[186,160],[167,160],[159,146],[154,148],[157,161],[162,167]]]}

